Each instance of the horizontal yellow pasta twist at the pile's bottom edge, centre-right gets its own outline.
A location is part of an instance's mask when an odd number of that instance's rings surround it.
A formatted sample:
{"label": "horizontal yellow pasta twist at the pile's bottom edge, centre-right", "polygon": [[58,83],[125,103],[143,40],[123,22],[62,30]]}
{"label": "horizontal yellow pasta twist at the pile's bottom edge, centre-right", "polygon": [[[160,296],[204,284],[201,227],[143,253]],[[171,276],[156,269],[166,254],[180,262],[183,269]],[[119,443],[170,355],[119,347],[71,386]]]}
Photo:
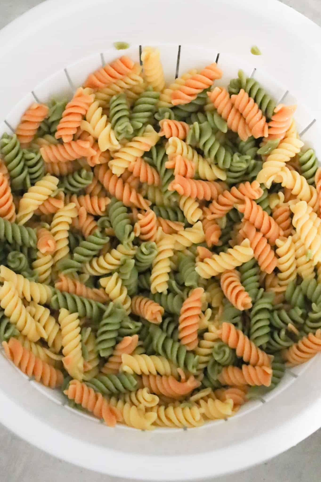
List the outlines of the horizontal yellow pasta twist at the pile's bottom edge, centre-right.
{"label": "horizontal yellow pasta twist at the pile's bottom edge, centre-right", "polygon": [[159,427],[193,428],[201,427],[204,423],[201,410],[196,405],[192,407],[183,404],[178,407],[158,405],[152,408],[152,412],[157,415],[154,423]]}

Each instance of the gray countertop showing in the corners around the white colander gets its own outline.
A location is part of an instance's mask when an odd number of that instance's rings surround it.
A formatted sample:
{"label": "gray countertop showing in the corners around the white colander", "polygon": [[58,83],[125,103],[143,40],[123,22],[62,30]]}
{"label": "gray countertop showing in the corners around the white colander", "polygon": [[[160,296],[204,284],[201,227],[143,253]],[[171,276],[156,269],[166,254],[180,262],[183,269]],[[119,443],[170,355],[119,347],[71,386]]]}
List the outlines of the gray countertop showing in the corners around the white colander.
{"label": "gray countertop showing in the corners around the white colander", "polygon": [[[235,0],[238,1],[238,0]],[[262,1],[262,9],[264,3]],[[41,0],[0,0],[0,28],[41,3]],[[283,3],[321,26],[321,0],[284,0]],[[285,20],[286,21],[286,20]],[[321,473],[321,429],[305,441],[265,464],[217,482],[315,482]],[[117,482],[120,479],[80,469],[41,452],[0,425],[0,481],[3,482]]]}

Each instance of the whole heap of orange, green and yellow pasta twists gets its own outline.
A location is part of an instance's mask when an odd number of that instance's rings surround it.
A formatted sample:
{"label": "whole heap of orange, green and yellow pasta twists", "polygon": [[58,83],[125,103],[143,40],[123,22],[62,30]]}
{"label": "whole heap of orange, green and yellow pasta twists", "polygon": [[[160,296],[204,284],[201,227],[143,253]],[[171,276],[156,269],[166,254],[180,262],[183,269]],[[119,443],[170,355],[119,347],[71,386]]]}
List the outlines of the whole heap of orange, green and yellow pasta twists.
{"label": "whole heap of orange, green and yellow pasta twists", "polygon": [[122,56],[0,140],[0,339],[108,426],[234,415],[321,350],[321,170],[296,106]]}

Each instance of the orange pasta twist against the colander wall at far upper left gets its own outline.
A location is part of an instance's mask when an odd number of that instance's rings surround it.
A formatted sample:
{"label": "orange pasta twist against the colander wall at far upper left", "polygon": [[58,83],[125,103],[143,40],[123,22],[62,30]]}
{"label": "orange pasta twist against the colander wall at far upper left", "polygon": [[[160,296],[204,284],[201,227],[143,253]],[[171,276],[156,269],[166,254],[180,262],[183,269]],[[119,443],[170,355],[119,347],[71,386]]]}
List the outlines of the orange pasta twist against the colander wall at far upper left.
{"label": "orange pasta twist against the colander wall at far upper left", "polygon": [[48,107],[45,104],[31,104],[21,117],[15,134],[21,147],[28,147],[37,133],[40,123],[47,117]]}

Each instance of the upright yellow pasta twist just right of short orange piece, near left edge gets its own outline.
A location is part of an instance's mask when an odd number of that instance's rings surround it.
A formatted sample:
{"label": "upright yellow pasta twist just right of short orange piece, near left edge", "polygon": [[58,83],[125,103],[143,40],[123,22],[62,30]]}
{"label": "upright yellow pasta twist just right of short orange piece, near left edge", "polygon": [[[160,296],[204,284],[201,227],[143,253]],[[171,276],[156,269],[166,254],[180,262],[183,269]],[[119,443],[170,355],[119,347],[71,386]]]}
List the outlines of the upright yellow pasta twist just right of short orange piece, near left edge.
{"label": "upright yellow pasta twist just right of short orange piece, near left edge", "polygon": [[68,230],[72,218],[76,216],[77,208],[73,202],[70,202],[54,214],[54,219],[50,226],[50,232],[54,236],[54,241],[56,241],[56,251],[53,257],[54,264],[65,258],[69,253]]}

